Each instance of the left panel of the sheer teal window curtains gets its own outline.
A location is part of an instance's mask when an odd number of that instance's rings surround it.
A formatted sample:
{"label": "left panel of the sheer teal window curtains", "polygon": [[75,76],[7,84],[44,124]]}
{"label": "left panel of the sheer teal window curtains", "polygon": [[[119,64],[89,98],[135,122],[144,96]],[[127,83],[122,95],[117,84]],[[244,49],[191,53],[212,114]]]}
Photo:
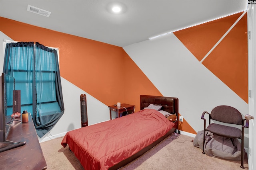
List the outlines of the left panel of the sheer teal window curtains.
{"label": "left panel of the sheer teal window curtains", "polygon": [[[34,43],[7,43],[3,72],[15,78],[15,90],[20,90],[21,111],[33,111]],[[34,105],[35,107],[35,105]]]}

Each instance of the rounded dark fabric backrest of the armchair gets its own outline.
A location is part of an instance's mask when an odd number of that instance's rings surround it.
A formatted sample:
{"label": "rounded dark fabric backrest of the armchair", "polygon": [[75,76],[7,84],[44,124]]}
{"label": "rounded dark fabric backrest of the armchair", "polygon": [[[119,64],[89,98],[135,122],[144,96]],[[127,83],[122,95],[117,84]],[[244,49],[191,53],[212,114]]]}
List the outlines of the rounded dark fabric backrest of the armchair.
{"label": "rounded dark fabric backrest of the armchair", "polygon": [[242,125],[243,123],[243,118],[240,111],[231,106],[215,107],[212,109],[211,119],[236,125]]}

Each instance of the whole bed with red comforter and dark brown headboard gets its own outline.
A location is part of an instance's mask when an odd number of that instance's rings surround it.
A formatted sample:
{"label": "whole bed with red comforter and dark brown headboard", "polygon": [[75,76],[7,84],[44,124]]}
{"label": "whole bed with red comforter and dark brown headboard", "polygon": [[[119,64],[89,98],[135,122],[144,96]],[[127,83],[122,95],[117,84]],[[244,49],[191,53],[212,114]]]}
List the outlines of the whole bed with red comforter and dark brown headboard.
{"label": "whole bed with red comforter and dark brown headboard", "polygon": [[85,170],[121,168],[177,129],[177,122],[169,121],[150,104],[178,115],[178,98],[141,95],[140,111],[69,131],[61,145],[69,146]]}

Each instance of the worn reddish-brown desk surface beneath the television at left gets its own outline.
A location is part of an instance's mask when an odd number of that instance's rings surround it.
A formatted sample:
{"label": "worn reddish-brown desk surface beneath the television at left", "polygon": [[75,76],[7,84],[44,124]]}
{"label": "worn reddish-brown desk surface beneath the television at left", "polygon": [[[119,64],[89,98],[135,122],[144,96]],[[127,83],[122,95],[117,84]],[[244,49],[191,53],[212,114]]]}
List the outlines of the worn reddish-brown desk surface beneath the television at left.
{"label": "worn reddish-brown desk surface beneath the television at left", "polygon": [[47,168],[30,114],[27,123],[13,121],[7,140],[26,141],[26,144],[0,152],[1,170],[45,170]]}

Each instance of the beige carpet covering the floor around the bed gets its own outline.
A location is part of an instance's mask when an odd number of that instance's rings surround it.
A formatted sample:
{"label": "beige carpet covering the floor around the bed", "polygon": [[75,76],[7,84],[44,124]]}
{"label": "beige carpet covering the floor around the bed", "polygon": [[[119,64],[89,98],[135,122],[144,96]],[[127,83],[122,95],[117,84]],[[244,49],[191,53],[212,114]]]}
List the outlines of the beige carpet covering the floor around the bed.
{"label": "beige carpet covering the floor around the bed", "polygon": [[[193,146],[193,137],[172,135],[120,170],[242,170],[240,161],[229,161],[202,154]],[[83,170],[79,160],[60,144],[62,138],[40,143],[48,170]],[[248,169],[247,156],[244,167]]]}

